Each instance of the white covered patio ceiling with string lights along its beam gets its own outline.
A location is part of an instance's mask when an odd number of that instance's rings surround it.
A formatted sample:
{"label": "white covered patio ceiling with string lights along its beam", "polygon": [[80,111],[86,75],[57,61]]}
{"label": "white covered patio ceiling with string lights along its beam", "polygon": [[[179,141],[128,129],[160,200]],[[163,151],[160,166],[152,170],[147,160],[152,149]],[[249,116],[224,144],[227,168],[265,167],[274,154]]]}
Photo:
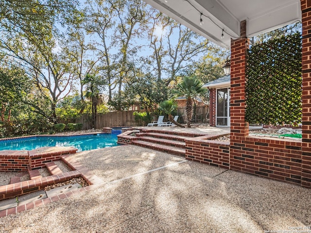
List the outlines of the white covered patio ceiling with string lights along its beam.
{"label": "white covered patio ceiling with string lights along its beam", "polygon": [[144,1],[222,47],[230,47],[230,38],[240,37],[240,22],[245,19],[247,37],[301,21],[300,0]]}

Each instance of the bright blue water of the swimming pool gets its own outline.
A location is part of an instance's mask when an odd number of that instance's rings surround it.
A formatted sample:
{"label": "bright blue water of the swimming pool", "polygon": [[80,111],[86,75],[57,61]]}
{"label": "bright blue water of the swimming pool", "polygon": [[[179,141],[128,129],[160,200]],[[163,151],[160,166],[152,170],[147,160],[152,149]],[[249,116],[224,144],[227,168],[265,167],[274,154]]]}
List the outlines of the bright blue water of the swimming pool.
{"label": "bright blue water of the swimming pool", "polygon": [[0,141],[0,150],[34,150],[40,147],[75,147],[78,151],[118,146],[117,133],[76,136],[35,136]]}

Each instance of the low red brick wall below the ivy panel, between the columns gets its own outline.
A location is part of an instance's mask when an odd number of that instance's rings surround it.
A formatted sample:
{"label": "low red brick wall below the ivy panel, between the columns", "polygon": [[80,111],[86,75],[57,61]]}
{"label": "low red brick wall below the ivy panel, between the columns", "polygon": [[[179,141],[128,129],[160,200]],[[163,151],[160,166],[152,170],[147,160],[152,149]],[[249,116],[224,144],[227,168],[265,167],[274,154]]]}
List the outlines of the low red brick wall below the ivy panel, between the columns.
{"label": "low red brick wall below the ivy panel, between the columns", "polygon": [[248,136],[230,145],[230,169],[301,183],[301,142]]}

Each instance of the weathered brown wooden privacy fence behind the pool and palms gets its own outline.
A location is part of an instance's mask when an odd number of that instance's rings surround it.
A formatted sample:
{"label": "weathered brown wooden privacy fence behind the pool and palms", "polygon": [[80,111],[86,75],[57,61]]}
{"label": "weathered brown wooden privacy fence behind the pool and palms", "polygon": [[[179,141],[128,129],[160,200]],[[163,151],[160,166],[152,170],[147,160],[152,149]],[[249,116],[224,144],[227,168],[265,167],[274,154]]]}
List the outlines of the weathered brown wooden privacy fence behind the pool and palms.
{"label": "weathered brown wooden privacy fence behind the pool and palms", "polygon": [[[96,128],[101,129],[104,127],[118,127],[118,126],[138,126],[138,122],[135,121],[134,112],[137,111],[123,111],[123,112],[110,112],[106,114],[98,114],[96,116]],[[194,123],[206,122],[206,116],[208,112],[207,106],[196,107],[193,114]],[[179,107],[177,109],[179,115],[178,122],[186,123],[186,110],[185,107]],[[83,129],[91,129],[91,117],[87,114],[83,114],[77,118],[75,123],[83,123]]]}

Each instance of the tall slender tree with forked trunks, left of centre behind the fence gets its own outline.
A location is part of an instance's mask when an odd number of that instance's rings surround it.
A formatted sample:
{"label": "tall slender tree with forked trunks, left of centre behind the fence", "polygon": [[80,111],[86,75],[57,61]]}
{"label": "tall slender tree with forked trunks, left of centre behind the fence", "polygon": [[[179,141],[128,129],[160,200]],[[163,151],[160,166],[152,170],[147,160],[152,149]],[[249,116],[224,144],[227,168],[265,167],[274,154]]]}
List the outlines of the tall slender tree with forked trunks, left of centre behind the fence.
{"label": "tall slender tree with forked trunks, left of centre behind the fence", "polygon": [[96,49],[102,56],[109,102],[117,110],[122,108],[122,86],[128,77],[135,74],[134,60],[139,48],[135,46],[134,39],[142,34],[146,22],[144,6],[140,0],[89,0],[86,8],[87,32],[100,38]]}

